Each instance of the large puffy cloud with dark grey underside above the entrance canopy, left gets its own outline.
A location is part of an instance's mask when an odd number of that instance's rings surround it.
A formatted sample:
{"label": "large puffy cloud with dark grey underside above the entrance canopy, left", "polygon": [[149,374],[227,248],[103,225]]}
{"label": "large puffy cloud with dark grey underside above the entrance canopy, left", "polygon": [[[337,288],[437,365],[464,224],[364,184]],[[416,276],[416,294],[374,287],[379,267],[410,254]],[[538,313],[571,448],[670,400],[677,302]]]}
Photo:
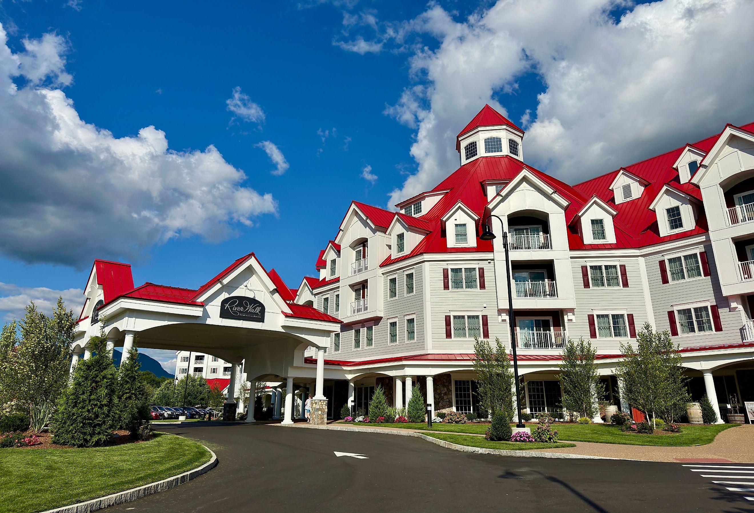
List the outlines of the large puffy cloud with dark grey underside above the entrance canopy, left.
{"label": "large puffy cloud with dark grey underside above the entrance canopy, left", "polygon": [[[155,127],[116,138],[82,121],[66,41],[13,53],[0,26],[0,252],[27,263],[138,260],[170,238],[222,241],[277,202],[245,185],[214,146],[176,152]],[[14,80],[20,84],[14,83]]]}

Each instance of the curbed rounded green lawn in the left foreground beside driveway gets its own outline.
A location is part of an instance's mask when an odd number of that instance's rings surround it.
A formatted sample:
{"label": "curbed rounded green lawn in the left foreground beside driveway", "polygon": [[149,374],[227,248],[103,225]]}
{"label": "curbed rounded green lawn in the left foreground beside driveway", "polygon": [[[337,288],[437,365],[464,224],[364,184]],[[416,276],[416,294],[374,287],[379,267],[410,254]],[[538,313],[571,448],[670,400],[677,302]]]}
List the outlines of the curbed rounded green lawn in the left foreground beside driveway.
{"label": "curbed rounded green lawn in the left foreground beside driveway", "polygon": [[210,460],[195,441],[159,434],[94,449],[0,449],[0,512],[30,513],[179,475]]}

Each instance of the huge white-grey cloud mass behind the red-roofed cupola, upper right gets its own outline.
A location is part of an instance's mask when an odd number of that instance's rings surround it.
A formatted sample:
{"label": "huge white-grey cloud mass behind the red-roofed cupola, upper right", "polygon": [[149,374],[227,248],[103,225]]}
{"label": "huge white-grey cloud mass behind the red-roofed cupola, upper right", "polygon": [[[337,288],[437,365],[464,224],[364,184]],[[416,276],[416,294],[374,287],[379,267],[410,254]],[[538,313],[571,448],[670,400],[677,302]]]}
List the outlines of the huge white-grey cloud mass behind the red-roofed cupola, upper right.
{"label": "huge white-grey cloud mass behind the red-roofed cupola, upper right", "polygon": [[526,72],[546,87],[521,120],[526,161],[569,182],[754,120],[752,19],[747,0],[501,0],[461,22],[431,5],[406,26],[437,45],[412,52],[415,85],[385,111],[417,130],[391,203],[455,170],[455,135],[484,103],[507,115]]}

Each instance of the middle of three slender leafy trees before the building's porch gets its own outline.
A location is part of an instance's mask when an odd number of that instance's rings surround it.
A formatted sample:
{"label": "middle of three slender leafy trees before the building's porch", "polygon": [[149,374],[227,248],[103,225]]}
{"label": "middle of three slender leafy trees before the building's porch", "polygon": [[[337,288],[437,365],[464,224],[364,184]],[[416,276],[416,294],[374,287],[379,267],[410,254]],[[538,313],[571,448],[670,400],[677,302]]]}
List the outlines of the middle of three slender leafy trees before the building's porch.
{"label": "middle of three slender leafy trees before the building's porch", "polygon": [[562,406],[580,417],[593,418],[597,413],[596,395],[601,395],[602,383],[594,364],[596,348],[580,339],[569,339],[563,349],[558,378],[562,381]]}

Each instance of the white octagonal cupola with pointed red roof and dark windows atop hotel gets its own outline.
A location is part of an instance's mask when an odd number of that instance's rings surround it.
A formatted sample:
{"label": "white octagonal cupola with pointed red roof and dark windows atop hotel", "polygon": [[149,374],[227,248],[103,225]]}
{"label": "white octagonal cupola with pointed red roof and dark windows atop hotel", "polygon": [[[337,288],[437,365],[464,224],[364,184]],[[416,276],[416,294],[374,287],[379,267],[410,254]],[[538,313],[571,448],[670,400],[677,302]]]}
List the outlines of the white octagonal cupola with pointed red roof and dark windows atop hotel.
{"label": "white octagonal cupola with pointed red roof and dark windows atop hotel", "polygon": [[485,105],[455,138],[461,165],[479,157],[510,155],[523,161],[523,130],[500,112]]}

